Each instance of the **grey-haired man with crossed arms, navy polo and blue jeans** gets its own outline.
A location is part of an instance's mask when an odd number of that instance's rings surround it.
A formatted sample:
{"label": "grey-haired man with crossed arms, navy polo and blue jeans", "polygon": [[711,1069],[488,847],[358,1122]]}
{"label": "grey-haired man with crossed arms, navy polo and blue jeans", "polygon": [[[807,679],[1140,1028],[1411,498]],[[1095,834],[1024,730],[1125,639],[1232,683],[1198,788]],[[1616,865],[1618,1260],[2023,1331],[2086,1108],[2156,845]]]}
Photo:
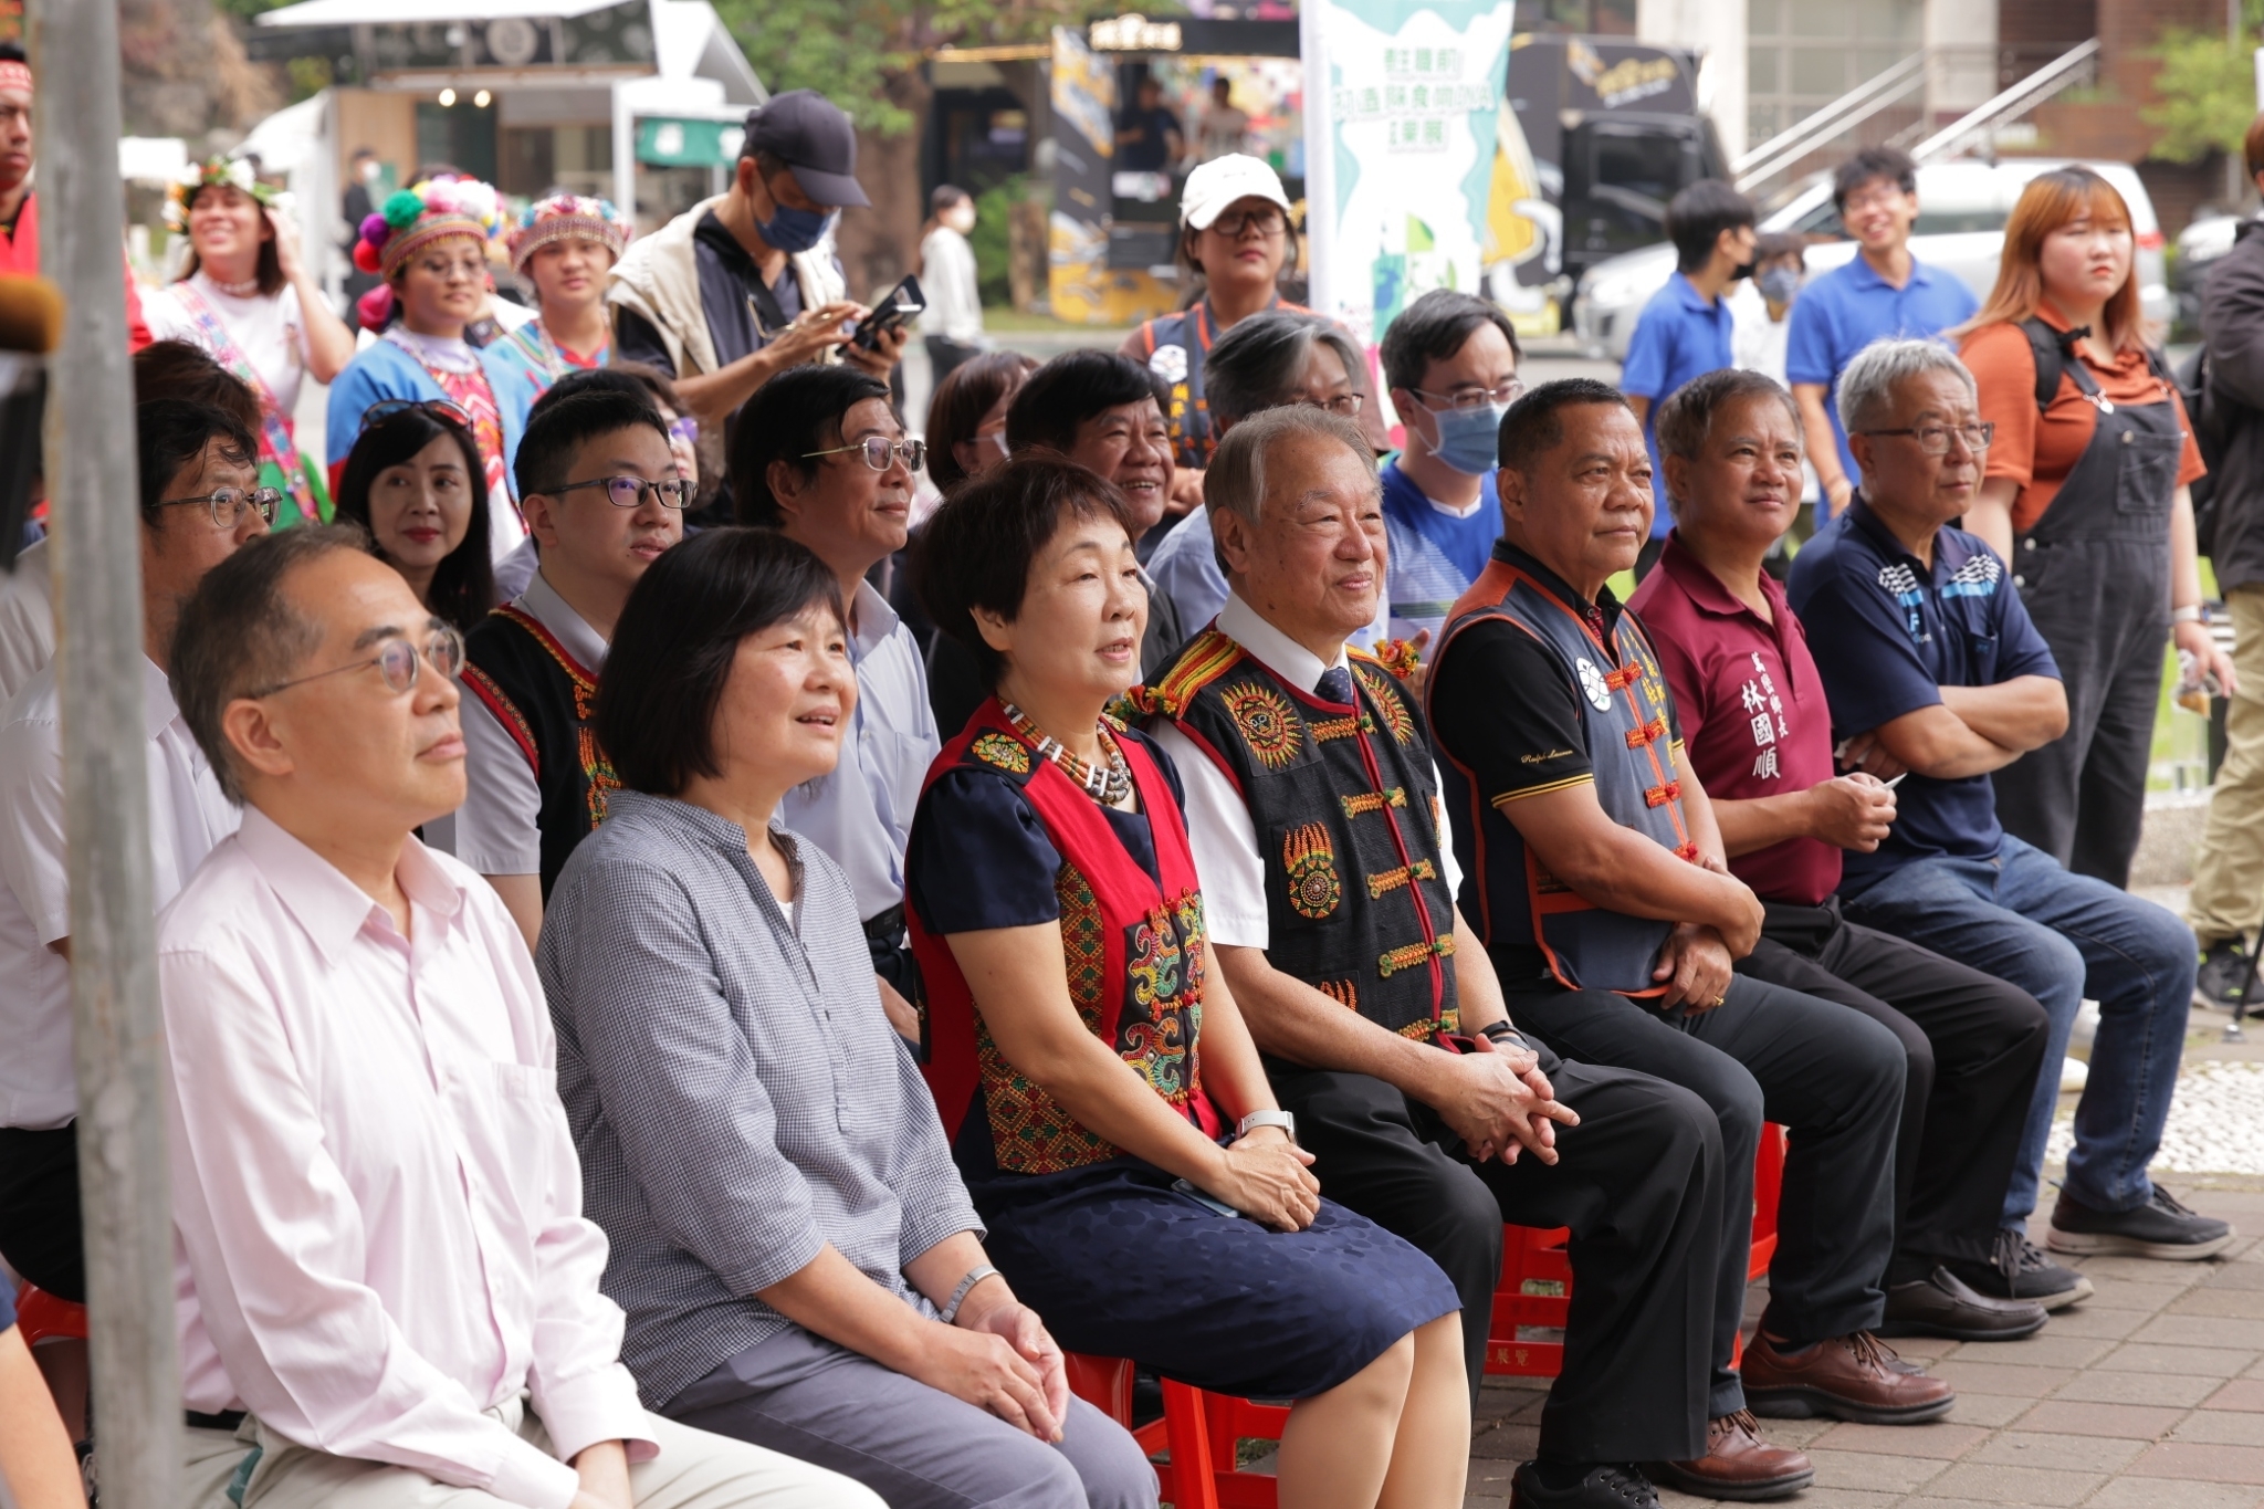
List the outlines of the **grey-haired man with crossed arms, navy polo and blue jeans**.
{"label": "grey-haired man with crossed arms, navy polo and blue jeans", "polygon": [[2051,1016],[2004,1228],[2035,1210],[2053,1072],[2076,1007],[2099,1000],[2092,1075],[2047,1235],[2056,1251],[2205,1258],[2232,1228],[2146,1179],[2178,1084],[2194,934],[2173,914],[2060,864],[1997,826],[1990,771],[2067,728],[2044,638],[1976,536],[1990,425],[1972,373],[1933,342],[1879,342],[1841,373],[1863,491],[1793,559],[1791,606],[1832,704],[1838,758],[1909,774],[1875,853],[1850,853],[1847,919],[2010,980]]}

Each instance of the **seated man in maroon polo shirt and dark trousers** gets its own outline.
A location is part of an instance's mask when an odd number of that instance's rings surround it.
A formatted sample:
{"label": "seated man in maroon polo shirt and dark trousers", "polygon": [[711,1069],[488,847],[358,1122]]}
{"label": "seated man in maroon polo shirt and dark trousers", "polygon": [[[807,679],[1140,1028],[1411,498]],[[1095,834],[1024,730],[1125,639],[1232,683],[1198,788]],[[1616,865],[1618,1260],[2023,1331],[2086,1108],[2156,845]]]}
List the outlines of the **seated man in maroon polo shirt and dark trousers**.
{"label": "seated man in maroon polo shirt and dark trousers", "polygon": [[[1723,369],[1662,405],[1657,437],[1675,532],[1628,606],[1650,629],[1730,871],[1766,912],[1761,941],[1736,968],[1852,1007],[1909,1054],[1879,1330],[2029,1335],[2042,1314],[2013,1294],[2024,1253],[1997,1251],[1997,1217],[2044,1057],[2044,1007],[1841,919],[1841,851],[1879,846],[1895,792],[1861,771],[1834,774],[1832,710],[1807,636],[1761,570],[1800,500],[1800,412],[1770,378]],[[2026,1269],[2024,1294],[2035,1283],[2033,1262]],[[2065,1296],[2042,1296],[2047,1308],[2090,1292],[2067,1281]]]}

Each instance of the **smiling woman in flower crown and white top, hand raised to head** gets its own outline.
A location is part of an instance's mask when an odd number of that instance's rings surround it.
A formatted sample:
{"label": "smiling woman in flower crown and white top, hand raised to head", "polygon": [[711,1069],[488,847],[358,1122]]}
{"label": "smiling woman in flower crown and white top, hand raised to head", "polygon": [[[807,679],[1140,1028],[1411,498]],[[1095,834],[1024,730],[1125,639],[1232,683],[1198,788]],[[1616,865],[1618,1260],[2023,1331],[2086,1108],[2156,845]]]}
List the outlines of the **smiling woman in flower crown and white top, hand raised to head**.
{"label": "smiling woman in flower crown and white top, hand raised to head", "polygon": [[321,466],[299,455],[299,382],[331,382],[353,333],[299,256],[299,228],[251,163],[192,163],[165,192],[165,224],[188,231],[181,278],[143,303],[158,339],[213,353],[260,400],[260,484],[283,493],[281,525],[324,520]]}

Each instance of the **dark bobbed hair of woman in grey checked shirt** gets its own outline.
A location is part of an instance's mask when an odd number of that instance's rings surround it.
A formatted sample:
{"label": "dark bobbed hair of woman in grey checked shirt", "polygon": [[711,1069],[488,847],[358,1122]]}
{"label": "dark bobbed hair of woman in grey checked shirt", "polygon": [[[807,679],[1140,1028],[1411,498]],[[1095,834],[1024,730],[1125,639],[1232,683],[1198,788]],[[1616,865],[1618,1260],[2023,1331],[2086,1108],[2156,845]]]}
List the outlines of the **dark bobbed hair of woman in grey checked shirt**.
{"label": "dark bobbed hair of woman in grey checked shirt", "polygon": [[675,796],[720,776],[715,706],[740,640],[813,606],[847,624],[840,581],[777,529],[702,529],[654,561],[614,624],[591,719],[620,783]]}

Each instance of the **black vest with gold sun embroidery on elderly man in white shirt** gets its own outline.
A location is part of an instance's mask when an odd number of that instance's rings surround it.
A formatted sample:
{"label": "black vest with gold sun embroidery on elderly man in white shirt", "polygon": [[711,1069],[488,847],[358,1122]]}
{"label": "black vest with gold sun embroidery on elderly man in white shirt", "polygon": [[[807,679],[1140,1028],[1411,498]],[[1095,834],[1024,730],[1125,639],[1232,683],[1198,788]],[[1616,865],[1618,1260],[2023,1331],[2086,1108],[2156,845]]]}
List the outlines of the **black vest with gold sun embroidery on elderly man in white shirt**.
{"label": "black vest with gold sun embroidery on elderly man in white shirt", "polygon": [[1234,783],[1266,860],[1266,962],[1379,1027],[1458,1032],[1453,896],[1422,713],[1352,654],[1352,704],[1204,629],[1146,692]]}

